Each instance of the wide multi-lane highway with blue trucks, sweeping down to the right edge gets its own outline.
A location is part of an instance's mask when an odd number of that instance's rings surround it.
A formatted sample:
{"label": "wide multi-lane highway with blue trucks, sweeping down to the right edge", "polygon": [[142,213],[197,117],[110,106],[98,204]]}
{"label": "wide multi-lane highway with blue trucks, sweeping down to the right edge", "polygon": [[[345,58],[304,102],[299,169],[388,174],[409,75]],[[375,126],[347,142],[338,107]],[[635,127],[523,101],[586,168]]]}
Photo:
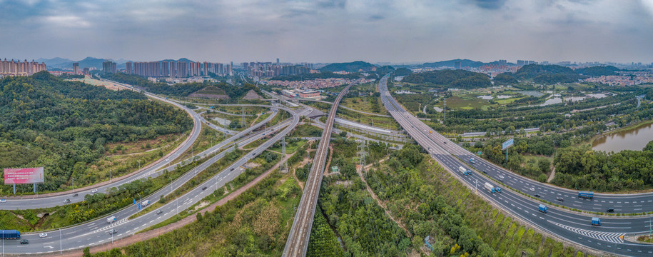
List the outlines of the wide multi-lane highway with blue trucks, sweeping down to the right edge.
{"label": "wide multi-lane highway with blue trucks, sweeping down to the right edge", "polygon": [[[522,196],[520,193],[512,191],[509,188],[503,188],[501,193],[492,193],[485,190],[483,188],[484,183],[491,183],[497,186],[496,181],[477,171],[472,172],[470,175],[463,175],[457,171],[460,166],[465,168],[470,168],[470,166],[467,165],[466,161],[461,161],[460,158],[457,158],[454,153],[450,153],[448,151],[450,148],[441,146],[441,144],[452,145],[452,142],[447,142],[445,138],[437,137],[435,131],[432,131],[432,129],[421,121],[415,119],[414,116],[408,113],[408,111],[405,111],[390,96],[386,84],[387,79],[388,76],[384,76],[380,80],[379,91],[381,92],[383,105],[388,109],[390,115],[442,167],[447,168],[460,181],[472,188],[472,190],[475,190],[487,201],[494,203],[495,206],[502,208],[502,210],[507,211],[512,216],[530,223],[532,226],[539,228],[541,231],[545,231],[551,236],[577,243],[577,245],[582,247],[623,256],[653,256],[652,245],[629,243],[623,239],[627,235],[647,233],[650,231],[650,217],[611,218],[602,216],[600,217],[602,226],[592,226],[592,215],[567,211],[553,206],[548,206],[547,213],[542,213],[537,208],[540,205],[540,201]],[[477,164],[475,167],[479,165],[482,166],[482,164]],[[502,176],[506,176],[508,172],[503,171],[502,174],[505,174]],[[515,175],[510,176],[511,178],[509,179],[515,177]]]}

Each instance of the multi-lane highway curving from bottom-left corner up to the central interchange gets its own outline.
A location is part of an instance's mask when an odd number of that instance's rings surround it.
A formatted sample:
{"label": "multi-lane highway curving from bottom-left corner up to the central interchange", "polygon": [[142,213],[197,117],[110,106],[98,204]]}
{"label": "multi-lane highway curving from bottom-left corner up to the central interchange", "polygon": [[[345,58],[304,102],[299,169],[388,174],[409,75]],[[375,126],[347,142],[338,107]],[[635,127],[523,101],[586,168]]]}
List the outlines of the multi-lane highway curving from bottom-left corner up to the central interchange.
{"label": "multi-lane highway curving from bottom-left corner up to the central interchange", "polygon": [[[260,146],[254,148],[252,151],[249,151],[245,156],[238,159],[238,161],[232,163],[216,176],[213,176],[207,181],[201,183],[199,186],[193,188],[188,193],[180,196],[178,199],[176,199],[176,201],[171,201],[165,206],[158,208],[162,211],[162,213],[157,214],[156,211],[151,210],[151,213],[147,213],[143,216],[138,216],[137,218],[129,219],[129,216],[132,216],[134,213],[138,212],[138,208],[136,206],[129,206],[128,208],[123,208],[117,213],[108,215],[116,216],[116,221],[113,223],[107,223],[106,218],[108,218],[108,216],[103,216],[97,220],[82,223],[77,226],[62,228],[61,230],[57,231],[47,231],[48,236],[46,238],[39,238],[39,233],[24,233],[21,238],[28,239],[30,241],[29,244],[21,245],[18,240],[6,240],[4,242],[3,251],[6,253],[23,254],[53,253],[59,252],[61,249],[67,251],[83,248],[86,246],[97,246],[103,243],[110,243],[112,238],[115,240],[118,238],[130,236],[133,233],[147,228],[148,226],[153,226],[156,223],[165,221],[167,218],[171,218],[171,216],[174,216],[176,213],[184,211],[186,208],[192,206],[198,201],[201,201],[202,198],[208,196],[210,193],[213,193],[216,188],[220,188],[226,183],[232,181],[233,178],[236,178],[236,176],[243,172],[243,170],[239,168],[240,166],[243,166],[243,164],[250,161],[250,159],[258,156],[260,153],[265,151],[265,149],[272,146],[273,143],[280,141],[283,136],[286,136],[288,133],[290,133],[290,131],[295,129],[295,126],[297,126],[299,123],[299,114],[284,107],[278,106],[277,108],[288,111],[291,114],[289,123],[287,121],[282,121],[279,126],[275,127],[280,128],[280,126],[283,126],[282,124],[286,124],[285,129],[282,131],[279,131],[279,129],[274,129],[274,131],[278,131],[278,133],[270,138],[270,140],[265,141]],[[263,131],[259,131],[257,134],[262,135],[263,133]],[[245,138],[241,143],[248,143],[254,141],[255,139],[257,138]],[[203,171],[205,168],[215,163],[220,158],[220,156],[223,155],[218,155],[216,158],[208,159],[196,168],[193,168],[193,171]],[[161,190],[152,193],[150,196],[146,196],[142,200],[150,200],[151,202],[158,201],[158,198],[162,194],[168,195],[176,188],[183,185],[184,181],[188,181],[194,175],[194,172],[188,172],[181,178],[178,178],[177,181],[171,183],[171,185],[161,188]],[[113,229],[116,230],[116,233],[109,234],[108,232],[112,231]]]}

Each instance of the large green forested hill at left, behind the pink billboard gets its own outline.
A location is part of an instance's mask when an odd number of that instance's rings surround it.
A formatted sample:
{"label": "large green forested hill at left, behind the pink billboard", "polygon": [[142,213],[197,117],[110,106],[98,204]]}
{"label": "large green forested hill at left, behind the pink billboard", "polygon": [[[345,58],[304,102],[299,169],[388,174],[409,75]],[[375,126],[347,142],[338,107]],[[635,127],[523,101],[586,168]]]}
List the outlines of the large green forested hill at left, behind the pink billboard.
{"label": "large green forested hill at left, behind the pink billboard", "polygon": [[[98,179],[91,166],[106,143],[193,126],[184,111],[143,94],[63,81],[46,71],[0,79],[0,116],[0,168],[44,166],[46,182],[39,188],[46,191],[66,188],[71,176],[76,185]],[[1,192],[9,191],[0,185]]]}

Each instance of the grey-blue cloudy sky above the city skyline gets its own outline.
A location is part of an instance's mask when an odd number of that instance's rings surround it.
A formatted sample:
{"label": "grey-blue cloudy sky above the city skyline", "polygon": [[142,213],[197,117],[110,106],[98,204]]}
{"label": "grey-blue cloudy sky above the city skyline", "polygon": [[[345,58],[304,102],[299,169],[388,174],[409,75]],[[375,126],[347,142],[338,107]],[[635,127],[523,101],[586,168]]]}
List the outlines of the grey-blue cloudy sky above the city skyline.
{"label": "grey-blue cloudy sky above the city skyline", "polygon": [[0,58],[653,62],[653,0],[0,0]]}

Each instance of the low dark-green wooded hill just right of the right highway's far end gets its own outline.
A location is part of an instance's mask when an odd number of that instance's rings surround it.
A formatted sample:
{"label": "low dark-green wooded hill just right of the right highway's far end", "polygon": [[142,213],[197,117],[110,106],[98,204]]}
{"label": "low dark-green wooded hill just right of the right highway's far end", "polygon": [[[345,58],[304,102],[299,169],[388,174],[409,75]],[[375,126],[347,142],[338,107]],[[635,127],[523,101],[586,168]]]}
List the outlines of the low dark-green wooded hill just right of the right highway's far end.
{"label": "low dark-green wooded hill just right of the right highway's far end", "polygon": [[492,86],[485,74],[464,70],[442,70],[414,73],[406,76],[403,82],[430,83],[444,88],[475,89]]}

